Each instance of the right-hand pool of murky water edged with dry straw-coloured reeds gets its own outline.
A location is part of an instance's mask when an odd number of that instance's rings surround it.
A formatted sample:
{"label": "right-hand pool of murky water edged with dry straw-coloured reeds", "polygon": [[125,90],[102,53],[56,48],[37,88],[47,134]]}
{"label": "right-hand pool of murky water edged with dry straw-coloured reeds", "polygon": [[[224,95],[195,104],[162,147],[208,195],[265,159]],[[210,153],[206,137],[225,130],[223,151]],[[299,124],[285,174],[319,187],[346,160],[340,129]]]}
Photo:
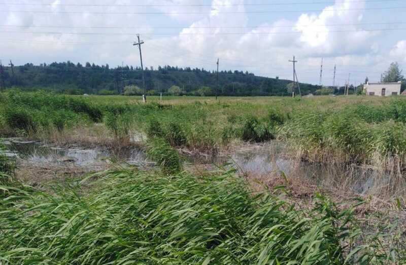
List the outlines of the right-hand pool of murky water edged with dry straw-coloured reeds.
{"label": "right-hand pool of murky water edged with dry straw-coloured reeds", "polygon": [[[235,169],[256,176],[270,176],[283,171],[288,178],[300,177],[315,185],[342,187],[344,183],[358,194],[364,194],[374,187],[376,179],[385,179],[378,172],[357,165],[322,166],[291,159],[286,156],[286,150],[284,143],[273,141],[253,149],[238,150],[227,157],[202,159],[197,163],[230,163]],[[193,163],[196,163],[196,160]]]}

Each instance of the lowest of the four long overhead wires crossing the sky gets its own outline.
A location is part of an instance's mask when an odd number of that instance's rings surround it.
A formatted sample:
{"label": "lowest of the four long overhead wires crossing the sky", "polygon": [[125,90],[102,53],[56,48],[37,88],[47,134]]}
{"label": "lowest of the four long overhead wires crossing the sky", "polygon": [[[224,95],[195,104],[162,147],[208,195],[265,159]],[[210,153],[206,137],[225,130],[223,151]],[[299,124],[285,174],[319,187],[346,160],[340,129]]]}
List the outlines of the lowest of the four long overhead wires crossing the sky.
{"label": "lowest of the four long overhead wires crossing the sky", "polygon": [[[307,31],[307,33],[330,33],[330,32],[363,32],[363,31],[393,31],[405,30],[406,28],[381,28],[381,29],[354,29],[354,30],[325,30],[325,31]],[[0,31],[0,33],[26,33],[26,34],[67,34],[67,35],[131,35],[131,33],[121,32],[55,32],[55,31]],[[284,32],[244,32],[243,34],[302,34],[302,31],[284,31]],[[179,32],[179,33],[144,33],[151,36],[168,35],[241,35],[242,32]]]}

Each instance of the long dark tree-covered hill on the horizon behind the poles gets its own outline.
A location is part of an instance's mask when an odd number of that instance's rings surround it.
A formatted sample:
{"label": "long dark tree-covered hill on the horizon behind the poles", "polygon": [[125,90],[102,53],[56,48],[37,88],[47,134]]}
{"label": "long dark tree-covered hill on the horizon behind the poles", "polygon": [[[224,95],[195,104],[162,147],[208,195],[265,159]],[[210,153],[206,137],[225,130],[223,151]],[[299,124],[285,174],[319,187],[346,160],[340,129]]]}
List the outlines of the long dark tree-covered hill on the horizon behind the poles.
{"label": "long dark tree-covered hill on the horizon behind the poles", "polygon": [[[164,66],[158,69],[148,68],[144,73],[149,95],[163,93],[212,96],[215,93],[214,71]],[[110,68],[109,65],[81,65],[69,61],[49,65],[27,63],[23,66],[4,66],[3,79],[7,88],[18,87],[23,90],[48,89],[71,94],[118,94],[124,91],[131,91],[132,94],[142,93],[139,89],[142,88],[141,68],[132,66]],[[218,94],[291,95],[291,82],[279,78],[257,77],[252,73],[236,70],[221,71]],[[302,94],[314,93],[319,88],[315,85],[300,84]]]}

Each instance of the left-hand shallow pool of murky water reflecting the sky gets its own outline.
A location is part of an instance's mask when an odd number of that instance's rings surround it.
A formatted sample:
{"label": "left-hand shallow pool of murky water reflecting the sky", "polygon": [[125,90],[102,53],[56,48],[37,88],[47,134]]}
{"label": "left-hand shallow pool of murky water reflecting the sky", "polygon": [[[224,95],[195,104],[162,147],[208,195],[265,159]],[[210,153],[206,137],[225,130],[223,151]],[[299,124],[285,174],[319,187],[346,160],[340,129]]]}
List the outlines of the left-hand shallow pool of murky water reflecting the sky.
{"label": "left-hand shallow pool of murky water reflecting the sky", "polygon": [[36,141],[24,141],[19,138],[3,140],[6,147],[4,154],[36,163],[74,163],[77,166],[88,166],[103,162],[107,158],[126,161],[130,164],[142,164],[145,155],[137,148],[125,150],[110,150],[103,147],[88,148],[60,148]]}

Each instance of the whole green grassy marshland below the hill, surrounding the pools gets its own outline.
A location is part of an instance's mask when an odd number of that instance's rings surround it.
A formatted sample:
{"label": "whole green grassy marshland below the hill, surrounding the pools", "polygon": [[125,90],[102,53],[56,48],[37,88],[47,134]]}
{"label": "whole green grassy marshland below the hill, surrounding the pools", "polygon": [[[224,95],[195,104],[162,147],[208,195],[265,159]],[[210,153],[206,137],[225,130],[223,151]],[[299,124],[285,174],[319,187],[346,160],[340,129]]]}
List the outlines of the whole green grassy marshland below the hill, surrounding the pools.
{"label": "whole green grassy marshland below the hill, surrounding the pools", "polygon": [[[0,263],[406,262],[406,98],[147,100],[0,94],[0,137],[111,148],[137,142],[159,166],[113,166],[43,191],[14,179],[18,165],[0,154]],[[298,161],[380,172],[385,184],[367,196],[389,201],[393,218],[363,222],[365,197],[341,204],[315,192],[302,208],[285,200],[286,183],[258,191],[233,170],[191,173],[182,164],[180,150],[216,156],[269,141],[286,143]]]}

